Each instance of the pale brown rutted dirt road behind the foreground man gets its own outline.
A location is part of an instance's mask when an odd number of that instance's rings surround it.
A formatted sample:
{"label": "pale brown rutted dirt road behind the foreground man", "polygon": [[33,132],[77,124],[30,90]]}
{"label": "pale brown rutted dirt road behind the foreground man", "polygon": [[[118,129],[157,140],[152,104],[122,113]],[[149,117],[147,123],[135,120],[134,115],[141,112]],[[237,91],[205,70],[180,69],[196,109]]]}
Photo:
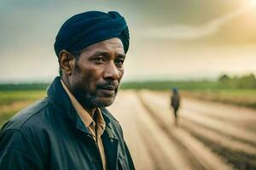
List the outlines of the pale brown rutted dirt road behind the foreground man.
{"label": "pale brown rutted dirt road behind the foreground man", "polygon": [[256,111],[182,99],[178,127],[169,94],[121,91],[108,109],[140,169],[256,169]]}

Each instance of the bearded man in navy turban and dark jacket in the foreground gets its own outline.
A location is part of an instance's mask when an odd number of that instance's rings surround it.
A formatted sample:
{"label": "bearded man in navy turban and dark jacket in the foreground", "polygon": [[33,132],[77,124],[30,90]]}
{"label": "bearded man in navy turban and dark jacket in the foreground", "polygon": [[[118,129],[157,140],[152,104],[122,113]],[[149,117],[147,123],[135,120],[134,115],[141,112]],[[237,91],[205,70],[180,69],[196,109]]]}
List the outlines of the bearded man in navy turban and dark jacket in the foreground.
{"label": "bearded man in navy turban and dark jacket in the foreground", "polygon": [[128,27],[117,12],[68,19],[55,39],[61,77],[47,98],[3,125],[0,169],[135,169],[119,122],[105,109],[128,48]]}

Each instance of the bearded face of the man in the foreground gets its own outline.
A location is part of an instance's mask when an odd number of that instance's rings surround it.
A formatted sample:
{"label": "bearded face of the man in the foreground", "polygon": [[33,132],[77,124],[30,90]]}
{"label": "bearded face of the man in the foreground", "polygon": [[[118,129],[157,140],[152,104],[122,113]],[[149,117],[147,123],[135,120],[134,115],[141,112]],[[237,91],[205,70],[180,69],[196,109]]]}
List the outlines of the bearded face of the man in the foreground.
{"label": "bearded face of the man in the foreground", "polygon": [[124,74],[125,52],[119,38],[84,48],[69,78],[76,99],[87,107],[111,105]]}

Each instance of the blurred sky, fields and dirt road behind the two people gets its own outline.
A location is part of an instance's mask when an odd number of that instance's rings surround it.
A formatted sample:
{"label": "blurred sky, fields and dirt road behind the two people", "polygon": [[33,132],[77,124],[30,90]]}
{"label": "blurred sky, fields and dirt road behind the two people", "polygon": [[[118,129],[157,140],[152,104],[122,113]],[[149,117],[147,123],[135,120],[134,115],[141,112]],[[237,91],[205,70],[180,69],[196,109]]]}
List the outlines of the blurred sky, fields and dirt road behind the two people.
{"label": "blurred sky, fields and dirt road behind the two people", "polygon": [[0,1],[0,127],[46,95],[55,35],[87,10],[117,10],[130,29],[109,110],[137,169],[256,169],[256,0]]}

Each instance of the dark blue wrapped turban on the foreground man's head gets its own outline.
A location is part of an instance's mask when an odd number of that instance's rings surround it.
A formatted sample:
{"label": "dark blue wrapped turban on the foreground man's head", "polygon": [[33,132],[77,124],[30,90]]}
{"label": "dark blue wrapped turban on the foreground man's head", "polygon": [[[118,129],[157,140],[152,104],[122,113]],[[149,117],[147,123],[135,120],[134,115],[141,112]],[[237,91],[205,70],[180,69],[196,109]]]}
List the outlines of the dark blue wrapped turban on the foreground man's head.
{"label": "dark blue wrapped turban on the foreground man's head", "polygon": [[89,11],[76,14],[68,19],[55,38],[55,54],[59,57],[62,49],[70,53],[79,52],[96,42],[119,37],[125,54],[129,48],[129,30],[124,17],[118,12]]}

